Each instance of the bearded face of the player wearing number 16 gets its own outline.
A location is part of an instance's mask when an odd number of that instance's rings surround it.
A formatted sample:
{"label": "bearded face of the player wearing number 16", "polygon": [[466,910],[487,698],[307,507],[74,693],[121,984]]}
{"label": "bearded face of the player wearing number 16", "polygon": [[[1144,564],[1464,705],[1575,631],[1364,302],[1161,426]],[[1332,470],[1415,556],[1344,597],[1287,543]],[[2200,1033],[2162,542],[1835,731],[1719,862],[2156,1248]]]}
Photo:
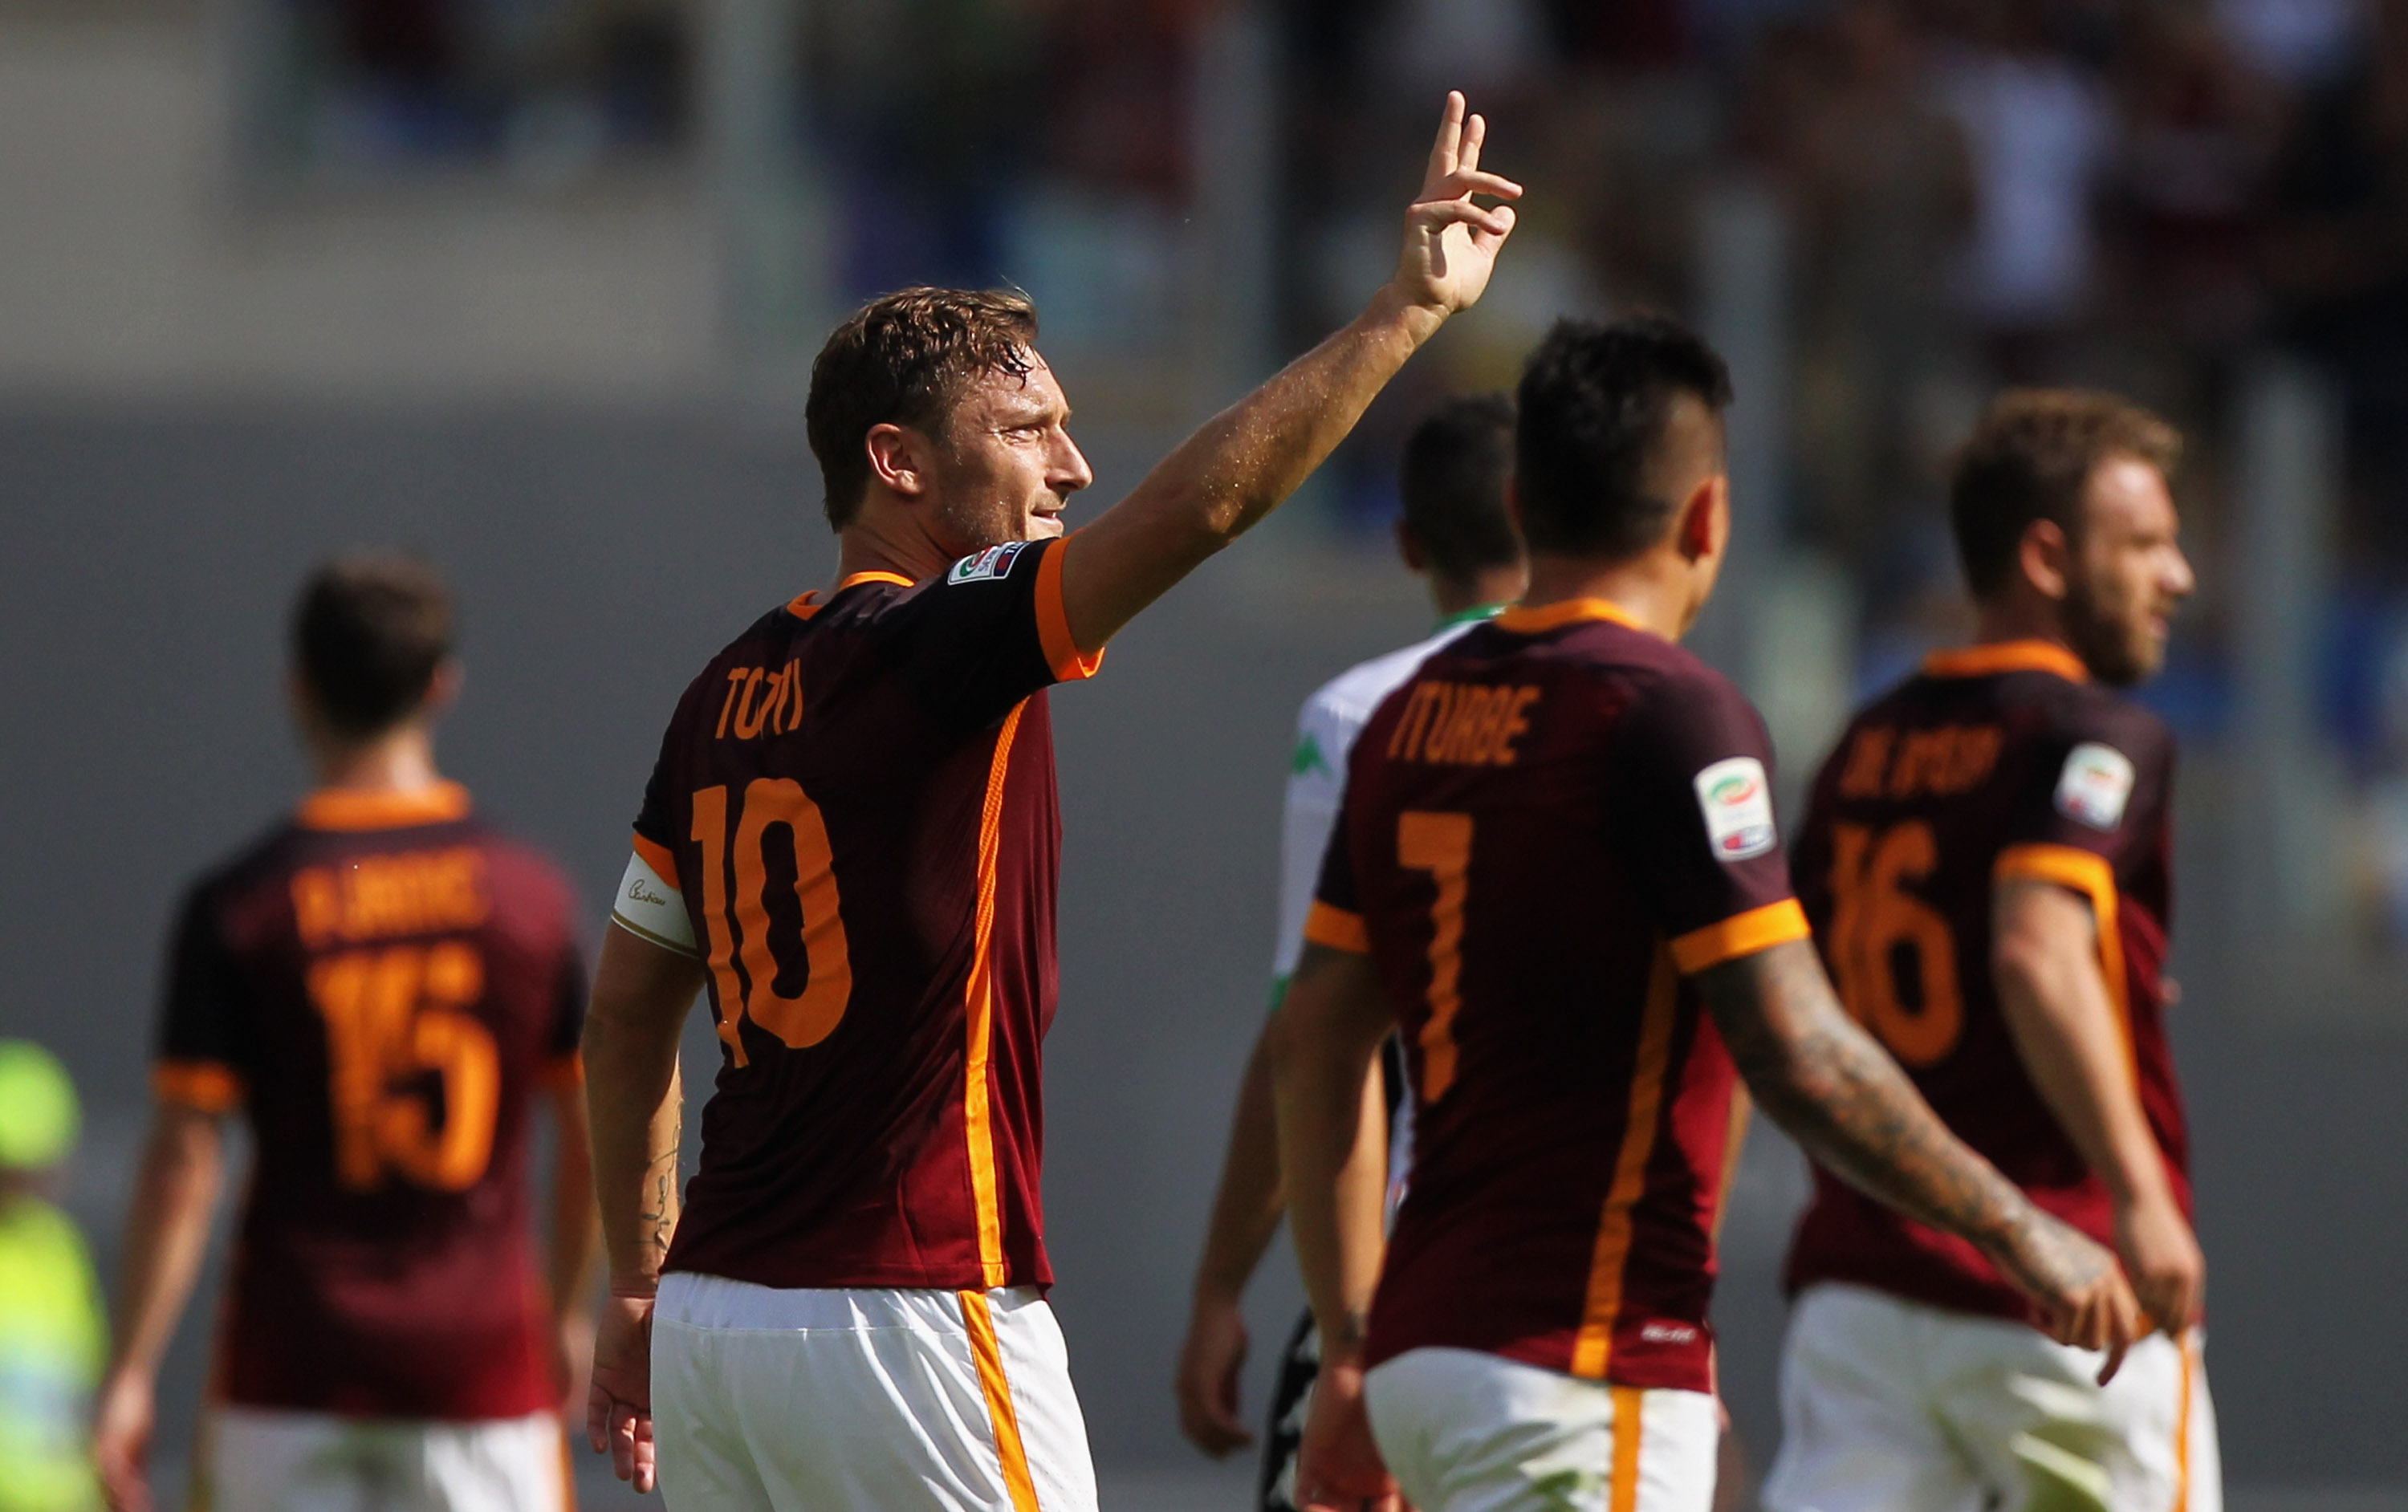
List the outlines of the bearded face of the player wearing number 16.
{"label": "bearded face of the player wearing number 16", "polygon": [[2066,578],[2066,638],[2090,674],[2129,689],[2165,665],[2174,609],[2191,595],[2191,561],[2165,474],[2109,457],[2083,489],[2081,532]]}

